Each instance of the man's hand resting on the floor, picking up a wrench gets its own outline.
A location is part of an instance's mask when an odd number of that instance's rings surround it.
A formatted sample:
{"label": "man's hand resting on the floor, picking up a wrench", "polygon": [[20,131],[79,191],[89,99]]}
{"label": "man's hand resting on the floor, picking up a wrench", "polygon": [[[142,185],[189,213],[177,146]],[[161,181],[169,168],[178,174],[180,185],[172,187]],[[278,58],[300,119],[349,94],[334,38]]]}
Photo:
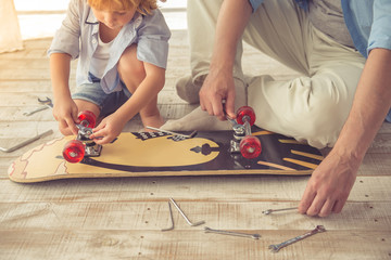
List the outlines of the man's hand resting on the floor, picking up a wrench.
{"label": "man's hand resting on the floor, picking up a wrench", "polygon": [[360,159],[330,154],[314,170],[299,205],[299,212],[327,217],[341,212],[353,187]]}

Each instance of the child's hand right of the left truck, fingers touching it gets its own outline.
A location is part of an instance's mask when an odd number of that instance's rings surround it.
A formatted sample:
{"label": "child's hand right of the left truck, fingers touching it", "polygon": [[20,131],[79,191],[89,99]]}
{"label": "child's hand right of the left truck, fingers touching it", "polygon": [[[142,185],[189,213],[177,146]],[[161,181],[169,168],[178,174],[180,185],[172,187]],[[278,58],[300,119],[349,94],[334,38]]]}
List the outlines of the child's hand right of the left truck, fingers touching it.
{"label": "child's hand right of the left truck, fingers touching it", "polygon": [[90,139],[97,144],[106,144],[119,135],[126,125],[126,120],[116,117],[115,113],[105,117],[98,127],[92,129]]}

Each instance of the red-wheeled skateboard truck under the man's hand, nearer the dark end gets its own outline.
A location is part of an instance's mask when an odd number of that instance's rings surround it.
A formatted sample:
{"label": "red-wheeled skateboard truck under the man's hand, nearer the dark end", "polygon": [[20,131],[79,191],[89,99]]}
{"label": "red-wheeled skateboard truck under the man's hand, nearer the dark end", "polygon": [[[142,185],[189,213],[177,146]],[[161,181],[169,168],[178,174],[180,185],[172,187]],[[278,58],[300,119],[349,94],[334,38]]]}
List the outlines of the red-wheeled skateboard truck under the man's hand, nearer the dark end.
{"label": "red-wheeled skateboard truck under the man's hand, nearer the dark end", "polygon": [[232,123],[234,140],[230,141],[229,152],[241,153],[244,158],[257,157],[261,152],[261,142],[256,136],[251,135],[251,126],[255,122],[255,113],[250,106],[242,106],[237,112],[237,120],[226,116]]}

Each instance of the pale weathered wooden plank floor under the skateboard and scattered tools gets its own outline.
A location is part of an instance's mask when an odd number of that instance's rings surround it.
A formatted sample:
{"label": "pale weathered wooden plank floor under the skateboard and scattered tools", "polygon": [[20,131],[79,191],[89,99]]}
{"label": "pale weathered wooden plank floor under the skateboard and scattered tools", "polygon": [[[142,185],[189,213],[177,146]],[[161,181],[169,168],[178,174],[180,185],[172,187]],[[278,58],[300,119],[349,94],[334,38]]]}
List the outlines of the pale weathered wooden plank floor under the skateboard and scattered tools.
{"label": "pale weathered wooden plank floor under the skateboard and scattered tools", "polygon": [[[60,136],[50,110],[30,117],[37,98],[52,96],[47,48],[51,39],[25,42],[25,50],[0,55],[0,146],[11,147],[53,129],[54,134],[13,153],[0,152],[0,259],[391,259],[391,127],[384,123],[360,168],[340,214],[311,218],[294,211],[264,216],[269,208],[298,206],[308,177],[161,177],[62,180],[17,184],[8,179],[13,159]],[[193,106],[175,93],[189,73],[187,34],[173,31],[167,81],[159,96],[167,119]],[[73,64],[74,68],[76,64]],[[245,72],[287,78],[294,73],[245,47]],[[75,82],[75,69],[72,72]],[[139,118],[126,131],[141,129]],[[42,158],[45,164],[45,158]],[[192,221],[213,229],[258,233],[254,240],[205,234],[188,225],[173,197]],[[321,233],[270,252],[278,244],[316,225]]]}

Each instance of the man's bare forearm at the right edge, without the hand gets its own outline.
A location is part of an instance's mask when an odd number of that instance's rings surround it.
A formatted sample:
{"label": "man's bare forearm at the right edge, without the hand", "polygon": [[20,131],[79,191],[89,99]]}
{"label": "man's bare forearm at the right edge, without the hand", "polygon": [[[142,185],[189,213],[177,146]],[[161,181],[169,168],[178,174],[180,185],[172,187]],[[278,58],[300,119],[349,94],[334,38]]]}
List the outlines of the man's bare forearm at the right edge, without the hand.
{"label": "man's bare forearm at the right edge, without the hand", "polygon": [[348,120],[335,145],[340,155],[363,159],[391,106],[391,50],[369,53]]}

